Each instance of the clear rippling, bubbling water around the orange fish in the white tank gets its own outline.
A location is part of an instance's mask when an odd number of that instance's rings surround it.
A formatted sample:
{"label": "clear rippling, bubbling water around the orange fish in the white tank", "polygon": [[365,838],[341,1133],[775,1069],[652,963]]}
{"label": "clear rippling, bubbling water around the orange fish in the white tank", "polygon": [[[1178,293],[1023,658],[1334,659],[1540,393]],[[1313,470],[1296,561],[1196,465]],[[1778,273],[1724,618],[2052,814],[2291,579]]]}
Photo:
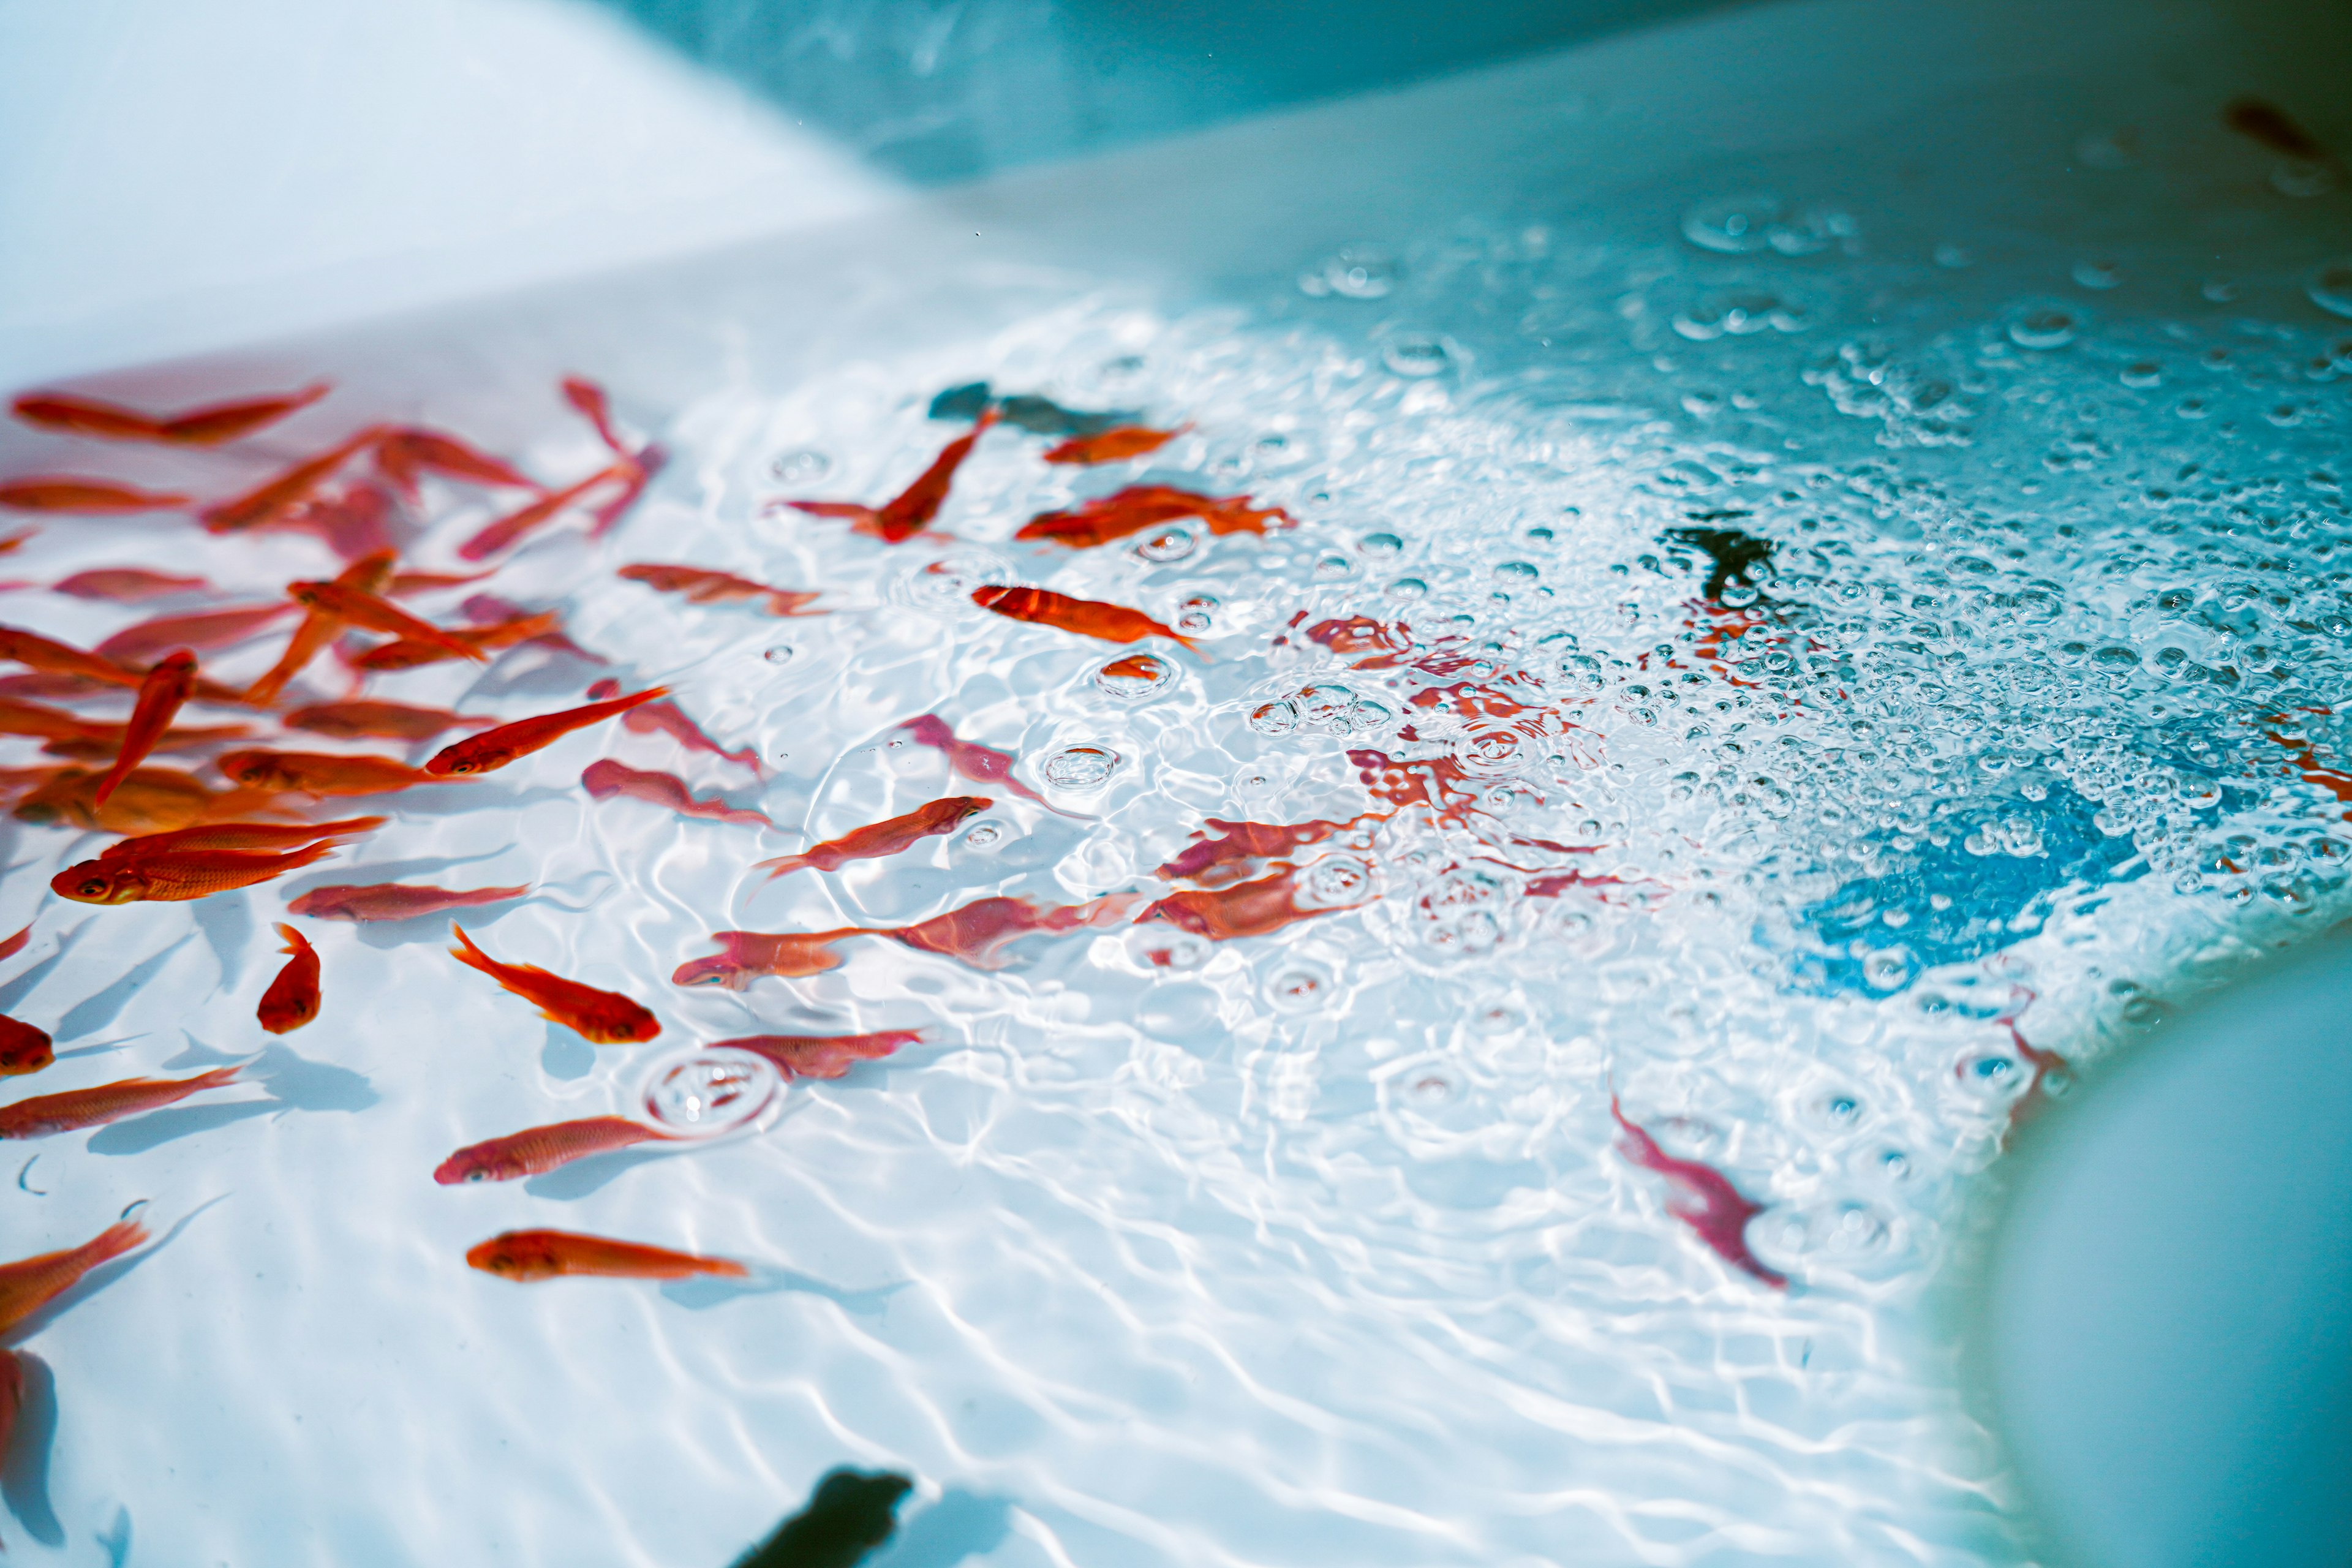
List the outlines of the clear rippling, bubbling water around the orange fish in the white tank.
{"label": "clear rippling, bubbling water around the orange fish in the white tank", "polygon": [[[374,691],[524,715],[663,679],[771,778],[607,726],[390,797],[395,827],[280,886],[40,905],[0,997],[59,1037],[31,1088],[238,1060],[282,900],[527,879],[468,931],[633,992],[661,1041],[532,1020],[440,922],[310,922],[327,1011],[259,1088],[26,1147],[0,1192],[14,1253],[132,1199],[172,1225],[26,1342],[54,1432],[12,1472],[9,1549],[722,1563],[851,1462],[920,1481],[891,1568],[2025,1561],[1933,1333],[1938,1265],[2018,1105],[2065,1081],[2004,1018],[2084,1063],[2199,961],[2343,905],[2343,804],[2303,773],[2343,764],[2352,322],[2298,207],[2340,193],[2288,193],[2220,129],[2020,158],[2058,221],[1938,216],[1865,162],[1712,169],[1334,244],[1240,303],[981,277],[1009,327],[675,402],[614,376],[663,480],[614,538],[564,524],[487,585],[562,604],[612,668],[522,649]],[[2114,216],[2192,176],[2194,233]],[[931,395],[981,376],[1192,433],[1096,473],[990,433],[938,543],[771,510],[891,494],[955,435]],[[539,430],[513,447],[534,473],[600,461]],[[1122,482],[1298,527],[1009,541]],[[482,515],[437,491],[414,559]],[[1710,607],[1677,529],[1771,564]],[[612,576],[647,559],[826,614]],[[158,522],[52,524],[9,569],[120,562],[238,599],[327,564]],[[1136,649],[969,602],[1011,581],[1190,616],[1204,656],[1141,644],[1167,679],[1105,677]],[[7,614],[82,642],[136,616],[35,590]],[[1411,656],[1310,637],[1352,616]],[[1519,710],[1463,712],[1461,682]],[[1044,804],[837,875],[750,870],[969,788],[896,729],[924,712],[1016,752]],[[1444,811],[1303,851],[1317,898],[1362,907],[1037,936],[1000,969],[851,938],[814,978],[668,983],[720,929],[1157,896],[1204,818],[1385,811],[1350,750],[1456,776]],[[597,755],[781,827],[590,802]],[[0,926],[89,842],[14,825]],[[753,1135],[428,1180],[463,1143],[628,1112],[680,1044],[887,1027],[927,1044],[788,1086]],[[1788,1291],[1665,1213],[1611,1093],[1764,1204],[1748,1241]],[[764,1267],[463,1267],[520,1225]]]}

